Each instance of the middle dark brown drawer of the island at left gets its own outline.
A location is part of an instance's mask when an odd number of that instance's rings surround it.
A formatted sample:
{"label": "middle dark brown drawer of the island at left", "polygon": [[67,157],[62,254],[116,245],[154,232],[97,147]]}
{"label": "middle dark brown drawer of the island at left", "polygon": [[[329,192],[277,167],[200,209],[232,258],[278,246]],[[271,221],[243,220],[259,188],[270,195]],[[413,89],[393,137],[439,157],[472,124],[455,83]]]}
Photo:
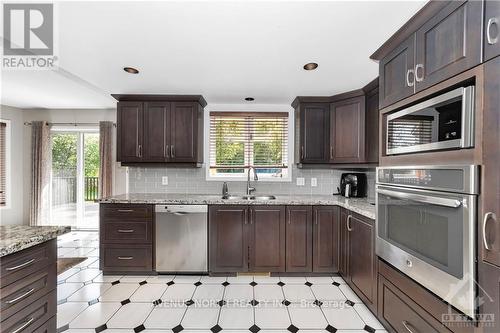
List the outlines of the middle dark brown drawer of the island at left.
{"label": "middle dark brown drawer of the island at left", "polygon": [[52,264],[0,289],[0,311],[6,319],[56,288],[57,266]]}

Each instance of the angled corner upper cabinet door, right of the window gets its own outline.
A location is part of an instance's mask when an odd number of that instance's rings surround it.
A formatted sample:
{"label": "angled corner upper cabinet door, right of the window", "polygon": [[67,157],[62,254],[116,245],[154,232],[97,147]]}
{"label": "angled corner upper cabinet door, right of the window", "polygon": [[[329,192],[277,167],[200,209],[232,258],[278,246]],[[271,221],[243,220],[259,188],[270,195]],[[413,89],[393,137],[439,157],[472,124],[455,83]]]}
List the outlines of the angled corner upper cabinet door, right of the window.
{"label": "angled corner upper cabinet door, right of the window", "polygon": [[365,97],[360,96],[332,103],[330,110],[331,162],[363,162],[365,159]]}

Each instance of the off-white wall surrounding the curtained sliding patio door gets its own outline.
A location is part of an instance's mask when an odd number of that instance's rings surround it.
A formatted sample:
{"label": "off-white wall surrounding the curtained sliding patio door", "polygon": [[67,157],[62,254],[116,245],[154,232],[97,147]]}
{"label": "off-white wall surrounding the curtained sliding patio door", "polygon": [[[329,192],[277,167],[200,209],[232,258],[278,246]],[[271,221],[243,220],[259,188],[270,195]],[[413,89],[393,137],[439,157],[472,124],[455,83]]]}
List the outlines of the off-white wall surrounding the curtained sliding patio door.
{"label": "off-white wall surrounding the curtained sliding patio door", "polygon": [[[35,120],[45,120],[50,123],[98,123],[99,121],[116,122],[116,109],[24,109],[23,122],[31,122]],[[24,167],[22,175],[23,182],[23,216],[25,223],[28,223],[29,218],[29,200],[31,187],[31,127],[23,126],[23,161]],[[113,134],[115,140],[116,136]],[[20,147],[19,147],[20,148]],[[114,194],[127,192],[127,169],[121,167],[116,162],[116,142],[113,144],[113,191]],[[21,170],[21,168],[19,169]]]}

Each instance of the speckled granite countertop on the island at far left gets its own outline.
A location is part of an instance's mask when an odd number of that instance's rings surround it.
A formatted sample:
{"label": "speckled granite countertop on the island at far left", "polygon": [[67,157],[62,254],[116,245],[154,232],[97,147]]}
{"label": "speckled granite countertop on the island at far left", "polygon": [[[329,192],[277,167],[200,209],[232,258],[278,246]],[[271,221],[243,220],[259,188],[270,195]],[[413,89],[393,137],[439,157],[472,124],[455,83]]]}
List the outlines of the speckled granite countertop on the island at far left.
{"label": "speckled granite countertop on the island at far left", "polygon": [[71,227],[0,226],[0,257],[41,244],[71,231]]}

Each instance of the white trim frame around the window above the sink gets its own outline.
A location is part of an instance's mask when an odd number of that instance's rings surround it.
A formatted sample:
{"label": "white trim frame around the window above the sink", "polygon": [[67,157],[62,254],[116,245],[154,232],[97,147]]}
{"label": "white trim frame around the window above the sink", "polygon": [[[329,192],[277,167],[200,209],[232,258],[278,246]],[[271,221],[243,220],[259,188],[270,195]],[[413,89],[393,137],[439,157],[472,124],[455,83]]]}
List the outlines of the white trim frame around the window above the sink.
{"label": "white trim frame around the window above the sink", "polygon": [[[287,112],[288,113],[288,172],[287,176],[283,178],[259,178],[258,182],[260,183],[286,183],[286,182],[291,182],[292,181],[292,166],[294,163],[293,157],[294,157],[294,110],[290,106],[281,106],[281,105],[265,105],[265,104],[260,104],[260,105],[253,105],[252,107],[249,108],[248,105],[244,104],[238,104],[238,105],[232,105],[232,104],[227,104],[227,105],[219,105],[219,106],[213,106],[213,107],[207,107],[205,108],[205,114],[204,114],[204,137],[205,137],[205,143],[203,145],[203,151],[204,151],[204,161],[205,161],[205,179],[207,181],[216,181],[216,182],[242,182],[242,181],[247,181],[247,171],[245,170],[244,175],[241,176],[224,176],[224,177],[217,177],[217,176],[211,176],[210,175],[210,147],[209,147],[209,142],[210,142],[210,111],[216,111],[216,112]],[[251,181],[253,181],[253,175],[250,175]]]}

